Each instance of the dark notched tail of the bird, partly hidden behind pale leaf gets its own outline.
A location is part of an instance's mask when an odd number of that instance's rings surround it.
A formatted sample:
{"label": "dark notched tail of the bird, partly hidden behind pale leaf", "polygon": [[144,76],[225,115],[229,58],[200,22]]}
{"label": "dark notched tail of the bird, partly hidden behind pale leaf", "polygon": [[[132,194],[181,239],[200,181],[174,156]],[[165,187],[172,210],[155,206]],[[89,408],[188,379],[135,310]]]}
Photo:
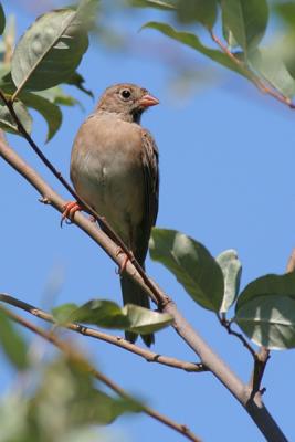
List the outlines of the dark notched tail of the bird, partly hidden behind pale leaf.
{"label": "dark notched tail of the bird, partly hidden behind pale leaf", "polygon": [[[149,308],[149,298],[147,294],[128,275],[125,274],[120,276],[120,287],[124,305],[135,304],[139,305],[140,307]],[[155,343],[154,334],[140,336],[148,347]],[[125,337],[130,343],[135,343],[138,335],[131,332],[125,332]]]}

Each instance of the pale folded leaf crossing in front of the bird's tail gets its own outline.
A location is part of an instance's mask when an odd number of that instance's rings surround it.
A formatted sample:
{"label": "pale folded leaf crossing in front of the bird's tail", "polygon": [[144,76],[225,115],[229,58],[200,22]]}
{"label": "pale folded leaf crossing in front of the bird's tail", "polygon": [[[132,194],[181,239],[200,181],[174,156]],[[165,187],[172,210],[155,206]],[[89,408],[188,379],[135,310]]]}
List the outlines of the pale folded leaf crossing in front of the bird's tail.
{"label": "pale folded leaf crossing in front of the bird's tail", "polygon": [[128,330],[139,335],[156,333],[173,322],[172,316],[167,313],[152,312],[133,304],[125,305],[123,312],[130,323]]}

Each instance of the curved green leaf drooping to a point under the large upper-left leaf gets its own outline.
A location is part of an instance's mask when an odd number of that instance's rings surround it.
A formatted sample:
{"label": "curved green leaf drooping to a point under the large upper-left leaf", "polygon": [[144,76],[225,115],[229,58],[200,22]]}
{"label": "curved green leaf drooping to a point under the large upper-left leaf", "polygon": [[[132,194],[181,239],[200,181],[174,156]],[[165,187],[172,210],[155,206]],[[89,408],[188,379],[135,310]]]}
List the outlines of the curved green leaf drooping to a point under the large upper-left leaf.
{"label": "curved green leaf drooping to a point under the large upper-left leaf", "polygon": [[38,110],[48,123],[46,141],[49,141],[59,130],[62,124],[62,112],[59,106],[43,98],[41,95],[30,92],[22,92],[20,98],[28,106]]}

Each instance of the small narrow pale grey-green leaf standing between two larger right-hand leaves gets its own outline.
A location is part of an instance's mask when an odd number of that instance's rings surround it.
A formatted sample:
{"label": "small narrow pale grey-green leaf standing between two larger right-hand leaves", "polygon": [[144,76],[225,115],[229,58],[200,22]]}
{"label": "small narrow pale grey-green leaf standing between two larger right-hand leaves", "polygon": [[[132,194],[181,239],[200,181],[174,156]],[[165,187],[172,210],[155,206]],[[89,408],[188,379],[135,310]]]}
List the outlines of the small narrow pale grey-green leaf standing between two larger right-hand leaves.
{"label": "small narrow pale grey-green leaf standing between two larger right-hand leaves", "polygon": [[235,250],[225,250],[217,256],[217,262],[219,263],[224,277],[224,295],[220,313],[226,313],[239,294],[242,264],[238,259]]}

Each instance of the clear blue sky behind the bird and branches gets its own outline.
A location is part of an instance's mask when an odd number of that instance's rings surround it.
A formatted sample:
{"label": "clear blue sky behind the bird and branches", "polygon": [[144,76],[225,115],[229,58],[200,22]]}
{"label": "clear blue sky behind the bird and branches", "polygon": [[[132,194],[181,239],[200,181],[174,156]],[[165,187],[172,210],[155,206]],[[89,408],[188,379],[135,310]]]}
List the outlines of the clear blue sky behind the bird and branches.
{"label": "clear blue sky behind the bird and branches", "polygon": [[[42,4],[38,6],[39,12]],[[25,8],[25,1],[4,0],[3,6],[7,13],[17,15],[19,33],[36,14],[32,7],[31,11]],[[147,87],[160,99],[160,105],[143,118],[160,151],[157,225],[193,236],[213,255],[235,249],[243,263],[242,287],[263,274],[283,273],[295,246],[295,116],[283,105],[260,95],[243,78],[224,70],[214,71],[217,67],[201,55],[156,31],[137,32],[146,21],[159,18],[152,10],[112,17],[113,27],[133,36],[131,49],[120,54],[106,49],[94,36],[80,69],[86,85],[97,98],[105,87],[127,81]],[[167,54],[169,60],[161,63]],[[178,56],[196,63],[200,78],[203,74],[211,78],[209,66],[219,75],[213,75],[209,83],[196,81],[189,95],[181,96],[171,82],[178,70]],[[39,117],[33,133],[65,177],[69,177],[74,135],[94,107],[92,99],[74,90],[72,93],[83,102],[85,112],[64,109],[62,129],[44,147],[45,124]],[[9,139],[69,199],[25,141],[12,136]],[[59,213],[40,204],[36,192],[3,161],[0,162],[0,192],[1,292],[41,307],[53,302],[46,297],[50,284],[57,286],[56,304],[70,301],[78,304],[93,297],[120,301],[114,263],[74,225],[61,230]],[[196,305],[173,276],[149,259],[147,272],[172,296],[212,348],[247,380],[251,358],[239,341],[221,329],[215,316]],[[264,440],[242,408],[210,373],[186,373],[150,365],[106,344],[75,339],[114,380],[157,410],[188,424],[203,441]],[[173,329],[157,335],[155,350],[196,360]],[[294,366],[293,350],[274,351],[263,381],[267,388],[265,403],[288,438],[295,433]],[[14,376],[1,364],[1,391]],[[122,418],[109,431],[124,434],[126,441],[182,439],[144,415]]]}

